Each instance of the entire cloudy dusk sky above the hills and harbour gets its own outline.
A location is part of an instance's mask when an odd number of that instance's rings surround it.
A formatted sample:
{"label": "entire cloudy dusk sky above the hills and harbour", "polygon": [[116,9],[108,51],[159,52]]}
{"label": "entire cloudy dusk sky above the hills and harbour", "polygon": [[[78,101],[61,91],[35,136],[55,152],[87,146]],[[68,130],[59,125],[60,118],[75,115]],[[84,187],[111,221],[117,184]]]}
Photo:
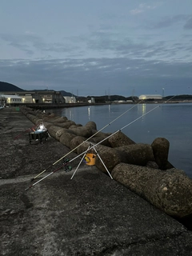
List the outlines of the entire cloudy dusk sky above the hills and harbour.
{"label": "entire cloudy dusk sky above the hills and harbour", "polygon": [[1,0],[0,56],[24,90],[192,94],[192,0]]}

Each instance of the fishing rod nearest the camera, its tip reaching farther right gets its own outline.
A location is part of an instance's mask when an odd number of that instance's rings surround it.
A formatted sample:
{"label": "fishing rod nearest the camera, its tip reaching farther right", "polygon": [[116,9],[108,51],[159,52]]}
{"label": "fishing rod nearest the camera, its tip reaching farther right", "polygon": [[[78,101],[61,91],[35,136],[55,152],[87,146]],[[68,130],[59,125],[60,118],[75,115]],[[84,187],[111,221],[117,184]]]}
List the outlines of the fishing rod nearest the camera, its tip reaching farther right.
{"label": "fishing rod nearest the camera, its tip reaching farther right", "polygon": [[[173,96],[172,98],[174,98],[174,97],[175,97],[175,96]],[[170,98],[170,99],[172,99],[172,98]],[[166,102],[170,101],[170,99],[167,100]],[[164,102],[164,103],[166,103],[166,102]],[[163,103],[162,103],[162,104],[163,104]],[[98,142],[98,143],[94,144],[93,146],[90,146],[87,150],[85,150],[85,151],[82,152],[81,154],[78,154],[78,156],[76,156],[75,158],[69,160],[68,163],[74,161],[76,158],[79,158],[82,154],[86,154],[86,152],[87,152],[88,150],[91,150],[91,149],[93,149],[95,146],[98,146],[98,145],[101,144],[102,142],[106,141],[106,139],[108,139],[108,138],[114,136],[114,134],[117,134],[117,133],[120,132],[121,130],[125,129],[127,126],[130,126],[130,125],[133,124],[134,122],[138,121],[140,118],[143,118],[146,114],[150,114],[150,112],[156,110],[159,106],[160,106],[160,105],[155,106],[153,109],[147,111],[145,114],[142,114],[140,117],[138,117],[138,118],[134,119],[132,122],[129,122],[128,124],[126,124],[126,126],[123,126],[123,127],[122,127],[121,129],[119,129],[119,130],[116,130],[113,134],[110,134],[108,137],[103,138],[101,142]],[[86,141],[85,141],[85,142],[86,142]],[[40,180],[38,180],[38,182],[35,182],[34,184],[32,184],[31,186],[29,186],[28,188],[26,188],[26,190],[29,190],[31,187],[37,185],[39,182],[42,182],[42,180],[44,180],[45,178],[49,177],[51,174],[54,174],[54,173],[55,173],[56,171],[58,171],[59,169],[60,169],[60,168],[58,168],[58,169],[56,169],[56,170],[53,170],[52,172],[50,172],[50,174],[47,174],[45,177],[43,177],[43,178],[41,178]],[[73,175],[70,179],[72,179],[73,177],[74,177],[74,175]]]}

